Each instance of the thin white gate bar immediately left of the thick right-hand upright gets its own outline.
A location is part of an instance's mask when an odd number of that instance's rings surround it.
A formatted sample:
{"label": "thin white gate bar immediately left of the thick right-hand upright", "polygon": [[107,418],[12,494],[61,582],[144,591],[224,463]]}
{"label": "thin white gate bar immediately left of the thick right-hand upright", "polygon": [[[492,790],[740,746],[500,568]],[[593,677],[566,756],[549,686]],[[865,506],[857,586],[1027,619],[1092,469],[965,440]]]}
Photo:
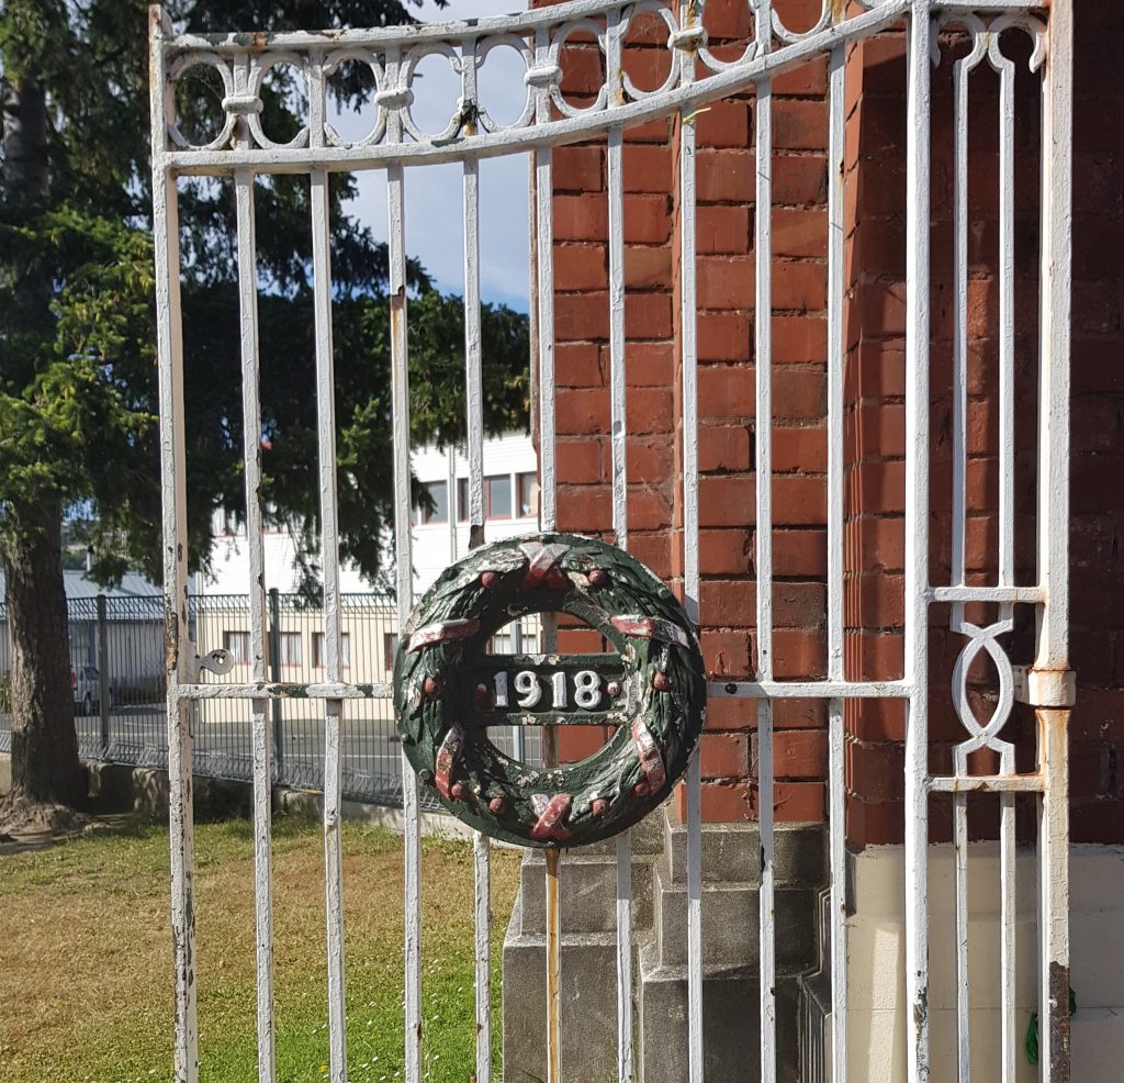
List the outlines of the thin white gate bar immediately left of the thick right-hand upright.
{"label": "thin white gate bar immediately left of the thick right-hand upright", "polygon": [[[836,20],[842,9],[836,9]],[[843,280],[846,46],[828,58],[827,151],[827,676],[843,665]],[[828,864],[831,868],[832,1081],[846,1083],[846,760],[843,701],[827,705]],[[818,1050],[817,1050],[818,1052]]]}

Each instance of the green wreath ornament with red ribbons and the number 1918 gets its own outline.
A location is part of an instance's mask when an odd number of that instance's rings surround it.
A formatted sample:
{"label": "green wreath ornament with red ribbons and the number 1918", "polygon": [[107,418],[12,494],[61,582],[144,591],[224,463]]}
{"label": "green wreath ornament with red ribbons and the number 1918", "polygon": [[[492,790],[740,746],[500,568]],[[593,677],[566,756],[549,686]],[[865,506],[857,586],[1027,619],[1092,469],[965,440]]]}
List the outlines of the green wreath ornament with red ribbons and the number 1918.
{"label": "green wreath ornament with red ribbons and the number 1918", "polygon": [[[615,652],[488,652],[532,613],[566,614]],[[395,709],[407,759],[460,820],[522,846],[581,846],[642,820],[687,769],[706,711],[703,655],[672,593],[620,549],[513,538],[446,568],[415,606],[395,657]],[[536,768],[489,740],[499,725],[614,732],[579,762]]]}

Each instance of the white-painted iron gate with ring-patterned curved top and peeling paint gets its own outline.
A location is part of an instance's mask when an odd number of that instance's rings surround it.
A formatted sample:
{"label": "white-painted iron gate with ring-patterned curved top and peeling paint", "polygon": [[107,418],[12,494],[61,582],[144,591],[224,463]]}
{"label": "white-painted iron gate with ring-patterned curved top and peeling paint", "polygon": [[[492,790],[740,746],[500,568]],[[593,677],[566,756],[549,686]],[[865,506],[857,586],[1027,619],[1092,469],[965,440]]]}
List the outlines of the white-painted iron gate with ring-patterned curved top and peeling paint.
{"label": "white-painted iron gate with ring-patterned curved top and peeling paint", "polygon": [[[778,4],[780,7],[780,4]],[[1001,795],[1001,968],[1003,968],[1003,1080],[1012,1083],[1021,1047],[1016,1034],[1015,973],[1015,819],[1017,794],[1037,795],[1039,801],[1039,986],[1042,1079],[1069,1080],[1068,1038],[1068,813],[1067,722],[1072,703],[1068,671],[1067,523],[1068,523],[1068,409],[1069,409],[1069,287],[1070,287],[1070,80],[1072,0],[1052,3],[1033,0],[823,0],[818,20],[799,33],[790,30],[771,0],[751,0],[751,39],[740,58],[719,58],[708,48],[703,27],[703,6],[697,0],[572,0],[558,7],[523,15],[480,19],[464,24],[422,25],[405,28],[292,33],[273,36],[230,34],[199,37],[178,33],[158,8],[151,13],[154,223],[156,235],[161,446],[164,498],[164,571],[169,646],[169,739],[171,776],[172,896],[175,953],[175,1077],[183,1083],[197,1079],[196,955],[193,918],[191,734],[192,701],[241,697],[253,704],[255,887],[257,922],[257,1021],[259,1065],[263,1083],[275,1077],[273,1043],[272,909],[271,909],[271,716],[270,702],[292,694],[290,686],[272,684],[266,671],[266,597],[264,586],[252,599],[253,680],[248,684],[215,684],[200,680],[200,665],[189,639],[188,552],[185,518],[185,462],[183,432],[183,373],[180,312],[180,251],[176,217],[176,179],[221,175],[233,179],[237,207],[237,259],[242,326],[243,407],[245,412],[245,476],[251,583],[262,583],[261,445],[259,435],[259,340],[254,238],[255,177],[289,172],[310,178],[310,225],[315,276],[316,371],[319,423],[319,485],[323,513],[324,643],[326,679],[300,686],[299,693],[324,704],[325,813],[327,855],[327,964],[330,1034],[330,1079],[346,1079],[343,878],[339,847],[341,742],[343,704],[348,698],[389,697],[388,685],[360,686],[342,679],[339,659],[339,558],[336,508],[336,450],[332,348],[332,272],[328,251],[328,195],[334,171],[384,171],[388,184],[391,339],[393,378],[393,445],[398,616],[405,624],[411,607],[409,392],[407,386],[407,276],[405,202],[409,168],[437,162],[463,166],[464,313],[470,461],[469,521],[472,536],[482,539],[483,422],[481,406],[480,348],[480,235],[479,160],[526,153],[533,161],[532,223],[534,234],[533,281],[536,309],[533,367],[537,380],[537,426],[541,448],[541,526],[556,526],[555,485],[555,372],[552,147],[595,137],[607,143],[609,358],[611,401],[613,523],[616,541],[628,540],[626,499],[626,437],[628,403],[625,394],[624,325],[624,186],[623,133],[626,127],[659,117],[678,116],[678,201],[681,211],[680,299],[681,333],[676,344],[680,363],[682,404],[682,514],[683,588],[690,615],[698,620],[699,598],[699,462],[697,357],[696,357],[696,132],[694,117],[708,103],[753,90],[756,97],[756,206],[770,207],[773,150],[772,79],[804,63],[827,57],[830,150],[827,169],[827,646],[826,679],[787,682],[772,671],[773,583],[771,466],[771,323],[754,321],[755,358],[755,469],[758,476],[755,568],[758,675],[754,680],[713,684],[715,697],[746,697],[759,704],[760,787],[771,793],[772,704],[782,698],[826,701],[830,719],[830,868],[832,968],[831,1074],[835,1083],[847,1077],[846,1019],[847,973],[844,836],[844,703],[849,700],[895,698],[908,705],[906,739],[906,965],[904,994],[907,1003],[908,1079],[931,1079],[928,1013],[928,901],[927,840],[928,798],[933,793],[953,795],[958,842],[957,876],[957,999],[961,1054],[959,1076],[968,1080],[968,955],[967,955],[967,804],[968,793]],[[623,72],[622,52],[629,20],[654,15],[667,28],[670,74],[658,90],[643,91]],[[850,679],[844,671],[844,137],[845,76],[853,45],[891,27],[906,27],[907,40],[907,139],[906,162],[906,561],[905,561],[905,671],[901,679],[871,682]],[[934,586],[930,568],[930,343],[931,253],[931,70],[939,60],[939,33],[954,26],[970,42],[969,54],[957,61],[954,117],[953,219],[955,328],[953,332],[953,507],[952,577],[948,586]],[[1025,31],[1033,42],[1032,66],[1041,72],[1042,161],[1040,209],[1040,358],[1037,377],[1037,571],[1033,586],[1018,585],[1014,569],[1015,494],[1010,478],[1015,445],[1014,424],[1014,64],[998,47],[1000,34]],[[574,33],[596,39],[604,56],[604,84],[596,100],[584,108],[571,103],[559,88],[562,53]],[[526,72],[525,105],[511,124],[492,121],[480,107],[477,74],[489,51],[514,48]],[[427,136],[411,117],[415,70],[423,57],[444,56],[460,79],[461,99],[445,132]],[[373,129],[357,142],[346,142],[329,123],[326,106],[328,76],[345,62],[369,65],[375,92]],[[968,274],[968,74],[990,64],[1000,80],[999,141],[999,473],[997,515],[998,576],[987,585],[971,584],[964,570],[964,536],[968,509],[963,496],[967,470],[967,274]],[[225,124],[217,137],[193,146],[176,126],[176,80],[196,64],[211,65],[225,89]],[[287,144],[272,142],[260,123],[259,92],[274,64],[293,65],[308,89],[308,119]],[[1041,65],[1041,67],[1039,67]],[[755,216],[756,312],[771,310],[771,225],[769,214]],[[190,327],[188,328],[190,334]],[[749,520],[747,520],[749,521]],[[999,619],[988,626],[966,620],[966,605],[997,606]],[[928,761],[927,703],[930,607],[951,607],[953,631],[969,638],[953,675],[953,695],[968,740],[954,753],[954,773],[934,776]],[[1012,628],[1017,605],[1033,606],[1036,614],[1036,655],[1025,671],[1012,667],[997,637]],[[705,621],[706,614],[701,614]],[[992,719],[975,721],[967,704],[966,671],[977,653],[986,651],[995,662],[999,692]],[[1000,740],[999,730],[1013,703],[1034,706],[1039,718],[1037,768],[1015,770],[1013,746]],[[976,749],[991,749],[1001,769],[994,775],[971,774],[967,757]],[[417,1083],[420,1071],[422,960],[419,897],[418,791],[406,767],[406,1079]],[[688,1003],[689,1077],[701,1083],[703,1057],[703,944],[700,924],[700,774],[698,757],[687,783],[688,809]],[[773,811],[771,801],[760,810],[762,848],[760,927],[760,1079],[777,1079],[776,1053],[776,929],[773,922]],[[490,914],[488,910],[488,841],[475,840],[477,877],[477,1083],[492,1079],[491,1017],[489,1003]],[[632,1052],[632,896],[628,836],[617,848],[618,892],[618,1077],[634,1077]],[[564,873],[564,867],[563,867]],[[547,991],[555,1011],[544,1020],[547,1028],[549,1076],[561,1083],[556,998],[559,966],[559,912],[556,859],[547,863]],[[746,1077],[756,1067],[746,1066]],[[942,1081],[943,1083],[943,1081]]]}

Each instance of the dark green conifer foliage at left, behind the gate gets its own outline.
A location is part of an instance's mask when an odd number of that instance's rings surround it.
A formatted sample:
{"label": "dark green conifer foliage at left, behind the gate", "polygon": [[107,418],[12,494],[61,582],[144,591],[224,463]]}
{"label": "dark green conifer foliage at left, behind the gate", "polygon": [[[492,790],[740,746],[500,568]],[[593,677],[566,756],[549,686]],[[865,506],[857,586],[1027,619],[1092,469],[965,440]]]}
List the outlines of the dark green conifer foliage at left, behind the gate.
{"label": "dark green conifer foliage at left, behind the gate", "polygon": [[[178,27],[201,33],[411,18],[399,0],[173,0],[166,7]],[[42,91],[46,119],[43,182],[17,161],[8,138],[0,159],[0,547],[27,529],[30,516],[21,508],[81,504],[96,524],[90,543],[103,577],[130,563],[157,574],[160,563],[146,33],[140,0],[0,6],[6,108],[34,114],[28,102],[34,106]],[[345,107],[362,106],[372,90],[355,67],[330,84]],[[207,65],[192,69],[178,89],[184,130],[203,130],[214,117],[217,88],[208,72]],[[292,129],[299,102],[283,67],[262,93],[266,130]],[[393,514],[387,253],[350,216],[355,195],[351,177],[333,177],[339,511],[345,556],[378,579],[382,527]],[[233,200],[226,181],[180,187],[196,565],[207,559],[214,509],[241,514],[245,502]],[[261,179],[255,207],[264,496],[270,514],[305,532],[315,570],[319,479],[307,179]],[[409,280],[413,435],[463,440],[461,303],[435,291],[416,263]],[[528,396],[526,319],[486,306],[483,339],[488,427],[520,426]]]}

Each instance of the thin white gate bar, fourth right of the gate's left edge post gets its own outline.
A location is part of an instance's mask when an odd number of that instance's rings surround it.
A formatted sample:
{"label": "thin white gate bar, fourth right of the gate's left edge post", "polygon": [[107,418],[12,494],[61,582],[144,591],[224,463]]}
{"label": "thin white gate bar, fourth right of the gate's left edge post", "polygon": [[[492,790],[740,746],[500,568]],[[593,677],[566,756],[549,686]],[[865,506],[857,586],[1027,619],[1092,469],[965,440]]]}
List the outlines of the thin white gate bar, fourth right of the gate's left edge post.
{"label": "thin white gate bar, fourth right of the gate's left edge post", "polygon": [[[463,47],[461,69],[463,98],[477,100],[475,54]],[[472,135],[475,124],[472,123]],[[464,383],[469,459],[469,549],[484,541],[483,513],[483,395],[480,355],[480,165],[465,159],[462,175],[464,218]],[[450,461],[454,451],[450,449]],[[453,559],[456,559],[456,471],[448,472],[448,518],[452,524]],[[475,879],[477,953],[477,1083],[491,1083],[491,866],[488,836],[472,837]]]}

